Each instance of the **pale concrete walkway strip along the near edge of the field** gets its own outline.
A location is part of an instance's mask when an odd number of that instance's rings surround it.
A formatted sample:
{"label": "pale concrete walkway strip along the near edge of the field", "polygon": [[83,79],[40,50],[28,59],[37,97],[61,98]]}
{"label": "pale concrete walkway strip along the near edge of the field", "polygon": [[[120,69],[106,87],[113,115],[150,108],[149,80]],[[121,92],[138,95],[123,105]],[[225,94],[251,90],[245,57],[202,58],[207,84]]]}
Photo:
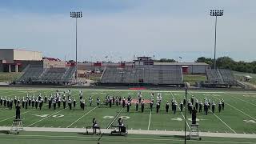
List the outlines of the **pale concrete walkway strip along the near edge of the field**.
{"label": "pale concrete walkway strip along the near edge of the field", "polygon": [[[0,130],[10,130],[10,126],[0,126]],[[52,128],[52,127],[24,127],[25,131],[38,132],[74,132],[85,133],[84,128]],[[90,130],[89,132],[92,132]],[[102,133],[108,134],[110,129],[102,129]],[[184,131],[164,131],[164,130],[128,130],[129,134],[150,134],[150,135],[178,135],[183,136]],[[189,134],[189,132],[187,132]],[[207,133],[200,132],[201,137],[220,137],[220,138],[256,138],[256,134],[231,134],[231,133]]]}

